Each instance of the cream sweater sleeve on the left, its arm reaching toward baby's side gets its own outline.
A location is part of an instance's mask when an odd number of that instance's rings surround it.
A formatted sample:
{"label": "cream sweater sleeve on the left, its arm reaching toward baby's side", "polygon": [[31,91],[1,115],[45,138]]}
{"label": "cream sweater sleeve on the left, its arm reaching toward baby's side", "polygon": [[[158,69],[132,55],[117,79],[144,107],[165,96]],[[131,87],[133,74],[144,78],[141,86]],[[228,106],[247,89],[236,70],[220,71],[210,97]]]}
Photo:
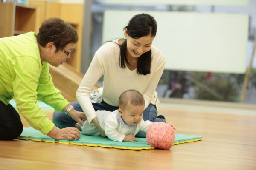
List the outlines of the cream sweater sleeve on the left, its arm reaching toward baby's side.
{"label": "cream sweater sleeve on the left, its arm reaching toward baby's side", "polygon": [[104,74],[104,67],[98,55],[99,53],[96,52],[76,92],[76,99],[83,109],[90,125],[94,124],[92,120],[96,117],[96,112],[89,96],[93,91],[93,86],[96,85],[99,78]]}

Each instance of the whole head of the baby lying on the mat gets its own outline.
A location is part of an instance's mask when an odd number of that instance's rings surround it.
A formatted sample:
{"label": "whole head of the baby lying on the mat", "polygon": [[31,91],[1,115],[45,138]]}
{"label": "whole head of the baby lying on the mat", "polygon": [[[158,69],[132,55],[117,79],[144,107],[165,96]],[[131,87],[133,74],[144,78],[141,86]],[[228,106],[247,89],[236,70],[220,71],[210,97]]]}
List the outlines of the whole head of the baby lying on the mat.
{"label": "whole head of the baby lying on the mat", "polygon": [[128,90],[119,97],[119,115],[122,116],[123,121],[135,126],[142,120],[145,100],[136,90]]}

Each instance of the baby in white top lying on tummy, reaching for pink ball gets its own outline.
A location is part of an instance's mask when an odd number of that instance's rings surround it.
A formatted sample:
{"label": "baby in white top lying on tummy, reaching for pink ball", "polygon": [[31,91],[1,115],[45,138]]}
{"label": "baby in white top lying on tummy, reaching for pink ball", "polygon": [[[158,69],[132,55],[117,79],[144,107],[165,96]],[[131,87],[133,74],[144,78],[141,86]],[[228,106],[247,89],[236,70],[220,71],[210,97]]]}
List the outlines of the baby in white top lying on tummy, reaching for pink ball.
{"label": "baby in white top lying on tummy, reaching for pink ball", "polygon": [[[147,132],[153,123],[142,119],[145,100],[140,92],[128,90],[119,97],[119,109],[113,112],[97,111],[96,117],[100,127],[106,136],[113,141],[137,142],[135,135],[141,130]],[[96,125],[89,125],[83,120],[84,125],[76,124],[76,127],[86,135],[100,136]],[[175,127],[169,123],[174,129]],[[176,129],[175,129],[176,130]]]}

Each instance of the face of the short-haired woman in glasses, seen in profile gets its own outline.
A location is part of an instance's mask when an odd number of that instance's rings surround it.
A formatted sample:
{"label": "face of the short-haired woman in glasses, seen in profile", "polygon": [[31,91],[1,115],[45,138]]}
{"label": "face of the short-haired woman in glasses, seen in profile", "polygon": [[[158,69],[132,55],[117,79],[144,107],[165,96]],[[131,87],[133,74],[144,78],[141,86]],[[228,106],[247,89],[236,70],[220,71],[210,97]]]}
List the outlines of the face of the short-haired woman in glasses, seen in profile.
{"label": "face of the short-haired woman in glasses, seen in profile", "polygon": [[[69,53],[72,51],[75,47],[75,43],[69,43],[64,47],[64,50],[58,50],[56,51],[56,47],[53,42],[49,42],[46,45],[47,55],[44,55],[42,61],[48,62],[50,65],[54,67],[58,67],[63,62],[65,62],[67,59],[70,58],[70,55],[67,56],[66,53]],[[66,52],[64,52],[66,51]]]}

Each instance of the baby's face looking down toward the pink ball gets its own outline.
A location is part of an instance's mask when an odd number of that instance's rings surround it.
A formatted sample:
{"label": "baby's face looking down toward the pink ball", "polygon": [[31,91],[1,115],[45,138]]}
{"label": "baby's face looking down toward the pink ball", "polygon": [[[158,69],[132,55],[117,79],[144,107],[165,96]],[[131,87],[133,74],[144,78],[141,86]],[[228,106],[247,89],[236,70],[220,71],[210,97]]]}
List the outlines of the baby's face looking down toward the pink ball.
{"label": "baby's face looking down toward the pink ball", "polygon": [[119,114],[126,124],[135,126],[142,120],[143,110],[144,105],[134,106],[128,103],[122,111],[119,109]]}

